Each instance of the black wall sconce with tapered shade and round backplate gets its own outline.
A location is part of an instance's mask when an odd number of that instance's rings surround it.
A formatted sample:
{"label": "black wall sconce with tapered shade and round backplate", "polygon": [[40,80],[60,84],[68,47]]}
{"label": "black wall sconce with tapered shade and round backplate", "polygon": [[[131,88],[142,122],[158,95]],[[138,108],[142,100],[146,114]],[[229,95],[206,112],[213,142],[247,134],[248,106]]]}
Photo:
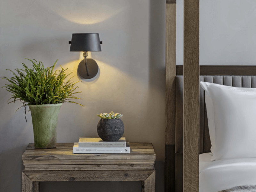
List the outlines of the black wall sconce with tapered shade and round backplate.
{"label": "black wall sconce with tapered shade and round backplate", "polygon": [[86,59],[88,51],[101,51],[99,33],[73,33],[69,41],[70,51],[83,51],[84,60],[78,65],[78,73],[85,79],[91,79],[98,73],[99,67],[95,60]]}

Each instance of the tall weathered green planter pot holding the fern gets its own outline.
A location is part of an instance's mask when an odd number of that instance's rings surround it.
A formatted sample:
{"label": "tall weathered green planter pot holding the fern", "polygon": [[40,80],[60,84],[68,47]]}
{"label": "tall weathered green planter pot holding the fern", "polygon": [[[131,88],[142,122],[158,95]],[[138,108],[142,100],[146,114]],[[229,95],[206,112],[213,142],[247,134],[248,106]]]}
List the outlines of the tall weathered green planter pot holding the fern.
{"label": "tall weathered green planter pot holding the fern", "polygon": [[31,111],[35,148],[55,148],[57,142],[57,124],[59,104],[28,105]]}

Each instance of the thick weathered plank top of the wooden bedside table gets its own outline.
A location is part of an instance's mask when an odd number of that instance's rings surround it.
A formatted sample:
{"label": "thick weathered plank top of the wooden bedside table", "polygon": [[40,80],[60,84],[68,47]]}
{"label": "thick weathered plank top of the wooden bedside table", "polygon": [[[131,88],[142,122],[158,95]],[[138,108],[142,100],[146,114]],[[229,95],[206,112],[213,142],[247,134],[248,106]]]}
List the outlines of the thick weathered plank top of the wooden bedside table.
{"label": "thick weathered plank top of the wooden bedside table", "polygon": [[130,143],[130,154],[73,154],[74,143],[58,143],[53,149],[36,149],[30,143],[22,155],[24,165],[154,164],[152,143]]}

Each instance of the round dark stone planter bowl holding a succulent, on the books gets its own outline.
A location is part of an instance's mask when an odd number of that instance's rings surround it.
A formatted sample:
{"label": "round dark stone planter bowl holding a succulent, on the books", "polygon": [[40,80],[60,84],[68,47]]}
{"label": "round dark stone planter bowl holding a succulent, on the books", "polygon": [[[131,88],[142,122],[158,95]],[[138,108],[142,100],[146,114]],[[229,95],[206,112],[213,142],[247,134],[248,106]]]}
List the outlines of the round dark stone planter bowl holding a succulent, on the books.
{"label": "round dark stone planter bowl holding a succulent, on the books", "polygon": [[118,141],[124,134],[124,123],[121,119],[100,119],[97,132],[103,141]]}

